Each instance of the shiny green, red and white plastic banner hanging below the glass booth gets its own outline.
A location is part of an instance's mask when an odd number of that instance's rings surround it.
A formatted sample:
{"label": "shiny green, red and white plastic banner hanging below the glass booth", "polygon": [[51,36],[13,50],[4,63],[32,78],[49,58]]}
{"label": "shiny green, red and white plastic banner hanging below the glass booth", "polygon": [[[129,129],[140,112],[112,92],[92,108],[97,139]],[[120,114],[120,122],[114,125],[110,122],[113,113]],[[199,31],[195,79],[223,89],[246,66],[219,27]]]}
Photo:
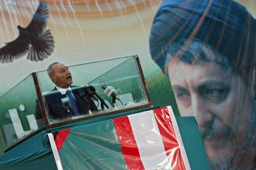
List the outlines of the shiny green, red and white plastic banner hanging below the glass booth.
{"label": "shiny green, red and white plastic banner hanging below the glass booth", "polygon": [[170,106],[47,135],[59,170],[190,170]]}

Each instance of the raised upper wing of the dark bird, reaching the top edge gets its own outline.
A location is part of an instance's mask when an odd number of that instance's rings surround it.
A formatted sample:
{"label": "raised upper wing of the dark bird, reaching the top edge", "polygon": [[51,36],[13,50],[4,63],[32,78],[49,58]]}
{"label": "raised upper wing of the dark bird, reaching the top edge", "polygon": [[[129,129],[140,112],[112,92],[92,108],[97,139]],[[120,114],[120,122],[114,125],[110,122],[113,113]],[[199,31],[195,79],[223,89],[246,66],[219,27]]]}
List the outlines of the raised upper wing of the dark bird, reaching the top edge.
{"label": "raised upper wing of the dark bird, reaching the top edge", "polygon": [[48,17],[49,8],[47,3],[45,0],[41,0],[31,22],[26,27],[26,31],[33,35],[40,35],[46,29]]}

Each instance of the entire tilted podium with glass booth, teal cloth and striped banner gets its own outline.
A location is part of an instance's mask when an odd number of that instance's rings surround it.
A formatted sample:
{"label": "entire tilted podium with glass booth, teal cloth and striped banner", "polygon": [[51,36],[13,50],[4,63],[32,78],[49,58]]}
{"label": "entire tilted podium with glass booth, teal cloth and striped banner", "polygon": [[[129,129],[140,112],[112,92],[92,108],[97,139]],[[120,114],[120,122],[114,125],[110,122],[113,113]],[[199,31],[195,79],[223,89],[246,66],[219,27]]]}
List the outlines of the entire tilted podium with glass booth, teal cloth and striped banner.
{"label": "entire tilted podium with glass booth, teal cloth and striped banner", "polygon": [[[112,125],[114,121],[117,119],[119,121],[120,119],[119,123],[121,122],[121,126],[127,127],[127,117],[132,117],[141,126],[133,127],[135,128],[134,130],[138,129],[139,132],[142,132],[144,127],[153,126],[155,128],[156,124],[162,130],[165,127],[170,127],[171,121],[169,123],[167,121],[167,124],[161,123],[163,125],[160,125],[158,118],[156,118],[156,121],[153,121],[153,119],[155,120],[153,114],[158,110],[158,107],[154,107],[150,101],[138,56],[68,66],[68,69],[72,74],[74,85],[81,87],[85,85],[93,86],[95,92],[106,102],[109,108],[105,107],[102,109],[100,101],[99,103],[94,101],[98,108],[97,112],[62,119],[53,118],[49,114],[44,96],[55,85],[50,81],[47,70],[32,73],[0,98],[0,102],[3,104],[0,106],[0,114],[2,115],[0,118],[0,169],[59,169],[58,163],[56,163],[58,162],[56,160],[56,152],[51,141],[54,139],[53,143],[56,143],[56,140],[60,140],[58,138],[64,139],[64,137],[67,138],[66,143],[61,144],[64,146],[61,150],[60,148],[58,149],[63,169],[73,167],[72,161],[69,161],[69,156],[78,156],[72,158],[77,165],[81,165],[81,167],[77,168],[97,169],[98,167],[100,169],[108,169],[129,167],[129,158],[134,154],[134,152],[129,152],[129,150],[134,149],[133,145],[128,147],[128,154],[121,149],[122,136],[127,135],[129,132],[124,130],[121,135],[120,133],[118,134],[119,128],[115,127],[114,129],[114,125]],[[104,94],[104,90],[101,88],[102,84],[114,87],[116,96],[121,102],[117,101],[114,104],[112,97]],[[166,108],[163,110],[166,110]],[[160,117],[162,113],[164,112],[159,112]],[[144,114],[144,117],[136,117],[141,114]],[[168,114],[172,115],[173,113]],[[157,116],[155,115],[155,117]],[[123,118],[126,121],[123,122]],[[144,122],[147,119],[148,121]],[[129,119],[129,121],[131,120]],[[168,120],[168,116],[163,120]],[[191,169],[209,169],[195,118],[174,118],[173,115],[173,120],[177,122],[175,123],[176,129],[178,128],[180,132],[178,135],[176,134],[177,139],[182,140],[183,143],[177,142],[178,140],[176,139],[174,141],[178,144],[177,148],[183,148],[183,154],[185,153],[187,156],[186,160],[188,161],[185,164]],[[65,135],[67,132],[72,133]],[[148,130],[147,132],[159,135],[155,130]],[[147,132],[142,134],[142,136],[149,136]],[[52,135],[52,139],[49,137],[49,134]],[[64,137],[60,134],[64,134]],[[168,135],[168,133],[163,134]],[[112,136],[112,139],[110,136]],[[75,137],[74,141],[72,141],[73,137]],[[146,140],[146,143],[153,144],[154,140],[155,138],[152,138],[152,141],[151,139]],[[174,144],[174,141],[171,138],[165,137],[165,146]],[[124,140],[124,142],[133,144],[128,139]],[[136,142],[139,145],[138,141]],[[59,147],[59,143],[56,143],[56,145]],[[67,147],[69,145],[72,145],[72,147]],[[100,150],[98,147],[103,149]],[[70,152],[65,150],[65,148],[73,149]],[[82,151],[83,148],[86,148],[86,152]],[[149,147],[149,151],[152,149],[153,147]],[[89,150],[90,152],[87,153]],[[110,158],[106,156],[109,150],[112,151],[109,154]],[[155,150],[158,152],[158,147]],[[129,154],[132,155],[130,156]],[[171,162],[170,155],[172,154],[168,150],[161,154],[166,154]],[[79,157],[80,155],[81,157]],[[127,155],[128,161],[125,159]],[[141,155],[141,159],[143,159],[141,151],[140,153],[137,152],[138,155]],[[68,159],[65,156],[68,156]],[[80,159],[82,159],[83,163],[91,163],[81,164],[79,163]],[[88,161],[88,159],[91,160]],[[159,160],[161,163],[162,159]],[[108,163],[109,161],[111,161],[110,164],[98,165],[100,162]],[[199,161],[200,164],[198,164]],[[146,160],[146,162],[150,164],[150,161]],[[145,167],[146,165],[143,162],[141,166]],[[150,167],[151,165],[148,166]]]}

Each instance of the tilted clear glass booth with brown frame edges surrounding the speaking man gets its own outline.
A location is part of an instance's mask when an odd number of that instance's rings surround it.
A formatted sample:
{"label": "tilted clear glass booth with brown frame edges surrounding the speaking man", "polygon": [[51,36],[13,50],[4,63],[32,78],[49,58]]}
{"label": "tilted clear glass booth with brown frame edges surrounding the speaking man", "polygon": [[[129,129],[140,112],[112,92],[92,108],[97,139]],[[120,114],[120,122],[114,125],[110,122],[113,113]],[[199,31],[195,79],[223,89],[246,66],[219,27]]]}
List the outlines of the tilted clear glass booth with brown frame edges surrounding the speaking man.
{"label": "tilted clear glass booth with brown frame edges surrounding the speaking man", "polygon": [[[64,63],[68,66],[66,63]],[[6,153],[42,130],[85,119],[152,107],[147,85],[137,55],[94,63],[68,66],[73,84],[82,97],[91,98],[98,111],[66,118],[53,118],[45,100],[55,84],[47,70],[33,72],[0,97],[0,153]],[[79,94],[81,95],[81,94]],[[64,109],[70,107],[59,101]],[[85,101],[86,102],[86,101]],[[108,108],[107,108],[108,107]],[[72,111],[72,110],[71,110]]]}

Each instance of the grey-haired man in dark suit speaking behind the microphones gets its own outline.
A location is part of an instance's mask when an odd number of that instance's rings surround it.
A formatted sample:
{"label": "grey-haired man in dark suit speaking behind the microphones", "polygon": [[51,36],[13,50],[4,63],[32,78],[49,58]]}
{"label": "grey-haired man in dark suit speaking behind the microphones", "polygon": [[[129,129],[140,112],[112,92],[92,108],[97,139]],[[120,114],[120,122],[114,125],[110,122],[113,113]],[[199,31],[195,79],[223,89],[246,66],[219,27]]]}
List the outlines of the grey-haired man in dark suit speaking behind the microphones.
{"label": "grey-haired man in dark suit speaking behind the microphones", "polygon": [[[97,111],[97,107],[91,98],[81,99],[77,95],[76,89],[84,94],[85,92],[79,86],[71,86],[73,83],[72,75],[67,66],[59,62],[52,63],[47,68],[47,74],[51,81],[56,84],[55,88],[44,96],[49,115],[53,116],[53,118],[62,119],[89,113],[85,103],[86,99],[90,104],[91,111]],[[70,100],[71,107],[65,108],[63,106],[62,98],[65,95]]]}

